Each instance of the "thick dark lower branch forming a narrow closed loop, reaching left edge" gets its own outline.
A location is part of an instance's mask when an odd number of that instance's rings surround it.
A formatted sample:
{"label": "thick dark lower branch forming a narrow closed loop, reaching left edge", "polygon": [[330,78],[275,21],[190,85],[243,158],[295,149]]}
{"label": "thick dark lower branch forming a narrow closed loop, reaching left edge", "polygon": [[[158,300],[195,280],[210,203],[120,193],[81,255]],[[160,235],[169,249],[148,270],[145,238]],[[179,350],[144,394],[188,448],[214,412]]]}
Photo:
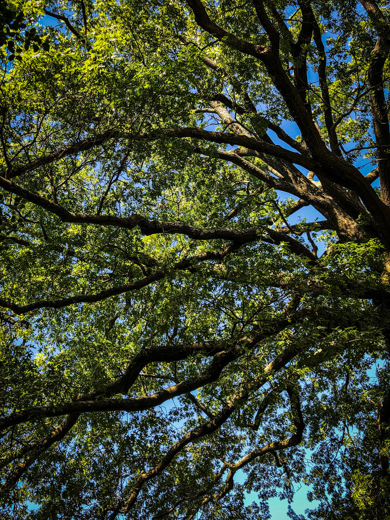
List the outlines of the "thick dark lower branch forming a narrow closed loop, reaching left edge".
{"label": "thick dark lower branch forming a narrow closed loop, reaching left edge", "polygon": [[[118,380],[109,384],[105,389],[102,389],[99,392],[82,394],[72,402],[56,404],[54,406],[34,407],[11,413],[7,417],[0,419],[0,431],[41,417],[59,417],[60,415],[65,415],[67,413],[99,411],[134,412],[158,406],[168,399],[172,399],[173,397],[177,397],[187,392],[192,392],[194,389],[218,379],[223,368],[227,366],[228,363],[237,359],[246,352],[246,350],[242,348],[243,343],[245,344],[246,349],[254,349],[259,342],[268,337],[274,336],[286,327],[291,327],[293,324],[297,324],[302,319],[305,319],[308,314],[310,314],[310,309],[295,311],[295,313],[290,314],[287,317],[283,316],[282,318],[271,319],[268,327],[264,328],[264,331],[254,329],[250,336],[245,336],[244,339],[239,339],[236,343],[232,343],[229,350],[226,350],[226,344],[220,341],[178,346],[169,344],[164,347],[158,346],[141,350],[131,363],[129,363],[124,374]],[[105,397],[110,397],[115,394],[127,394],[129,388],[131,388],[137,380],[141,370],[148,365],[148,363],[180,361],[199,352],[201,352],[203,356],[212,356],[213,361],[209,368],[193,378],[164,388],[150,396],[129,399],[104,399]],[[290,351],[287,350],[284,356],[289,353]],[[298,350],[296,350],[294,356],[297,353]],[[276,367],[281,367],[279,358],[281,360],[287,359],[283,356],[276,358],[276,361],[274,361],[274,366]],[[272,363],[270,363],[268,369],[272,369]]]}

